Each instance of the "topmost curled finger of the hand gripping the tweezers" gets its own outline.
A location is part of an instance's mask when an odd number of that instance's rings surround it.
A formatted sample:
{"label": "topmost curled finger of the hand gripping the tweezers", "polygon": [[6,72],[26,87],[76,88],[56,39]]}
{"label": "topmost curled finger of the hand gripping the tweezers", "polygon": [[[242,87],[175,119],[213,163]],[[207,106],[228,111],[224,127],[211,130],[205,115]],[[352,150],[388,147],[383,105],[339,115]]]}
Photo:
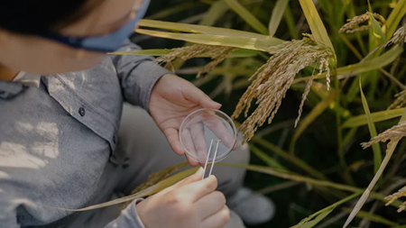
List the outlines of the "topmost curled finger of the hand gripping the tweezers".
{"label": "topmost curled finger of the hand gripping the tweezers", "polygon": [[[203,175],[203,172],[202,172]],[[216,190],[217,188],[217,178],[213,175],[211,175],[208,178],[204,178],[201,180],[202,176],[199,177],[199,181],[195,181],[193,183],[189,183],[188,185],[185,185],[181,191],[184,191],[185,196],[189,196],[189,200],[191,202],[197,202],[198,199],[200,199],[203,196],[206,196],[213,191]],[[193,193],[193,194],[190,194]]]}

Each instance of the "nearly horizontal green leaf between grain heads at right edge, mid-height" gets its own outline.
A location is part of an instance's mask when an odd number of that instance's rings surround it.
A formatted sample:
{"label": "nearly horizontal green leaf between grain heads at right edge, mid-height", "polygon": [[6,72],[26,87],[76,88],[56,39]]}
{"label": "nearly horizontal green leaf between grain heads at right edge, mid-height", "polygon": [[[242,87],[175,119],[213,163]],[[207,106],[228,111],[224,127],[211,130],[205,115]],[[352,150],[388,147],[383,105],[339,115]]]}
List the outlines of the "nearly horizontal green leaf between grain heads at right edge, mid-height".
{"label": "nearly horizontal green leaf between grain heads at right edge, mid-height", "polygon": [[[390,120],[390,119],[393,119],[396,117],[400,117],[404,110],[405,110],[404,108],[398,108],[398,109],[393,109],[393,110],[385,110],[385,111],[381,111],[381,112],[376,112],[376,113],[371,114],[371,118],[373,119],[374,123],[386,121],[386,120]],[[368,121],[367,121],[366,115],[361,114],[361,115],[357,115],[355,117],[348,119],[345,123],[343,123],[343,128],[359,127],[359,126],[363,126],[367,123],[368,123]]]}

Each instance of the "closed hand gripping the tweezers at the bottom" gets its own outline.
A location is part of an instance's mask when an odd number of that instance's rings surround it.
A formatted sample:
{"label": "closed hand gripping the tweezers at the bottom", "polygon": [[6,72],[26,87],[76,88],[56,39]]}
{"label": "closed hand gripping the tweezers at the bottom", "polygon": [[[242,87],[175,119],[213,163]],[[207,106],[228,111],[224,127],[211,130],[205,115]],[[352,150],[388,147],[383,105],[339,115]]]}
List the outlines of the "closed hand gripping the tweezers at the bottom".
{"label": "closed hand gripping the tweezers at the bottom", "polygon": [[202,175],[200,168],[189,178],[136,205],[145,227],[214,228],[228,223],[226,197],[215,191],[217,178],[201,180]]}

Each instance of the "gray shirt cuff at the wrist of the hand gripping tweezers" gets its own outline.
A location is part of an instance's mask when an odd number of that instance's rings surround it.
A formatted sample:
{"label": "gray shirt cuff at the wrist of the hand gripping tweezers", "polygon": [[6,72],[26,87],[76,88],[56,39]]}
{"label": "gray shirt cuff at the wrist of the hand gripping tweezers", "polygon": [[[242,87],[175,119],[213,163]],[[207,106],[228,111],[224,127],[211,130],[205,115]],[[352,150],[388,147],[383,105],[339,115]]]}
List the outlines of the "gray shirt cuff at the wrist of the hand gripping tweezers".
{"label": "gray shirt cuff at the wrist of the hand gripping tweezers", "polygon": [[108,223],[105,228],[145,228],[140,216],[137,214],[136,205],[143,199],[135,199],[121,211],[120,216]]}

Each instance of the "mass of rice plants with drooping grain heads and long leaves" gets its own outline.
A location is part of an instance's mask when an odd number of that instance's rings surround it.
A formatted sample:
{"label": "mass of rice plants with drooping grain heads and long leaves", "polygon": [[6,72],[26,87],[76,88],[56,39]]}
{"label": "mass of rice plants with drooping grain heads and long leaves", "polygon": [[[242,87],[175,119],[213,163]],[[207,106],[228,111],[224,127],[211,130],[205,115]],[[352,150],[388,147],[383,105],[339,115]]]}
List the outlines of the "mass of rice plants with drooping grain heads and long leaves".
{"label": "mass of rice plants with drooping grain heads and long leaves", "polygon": [[113,54],[157,56],[225,104],[253,151],[246,185],[278,206],[263,227],[406,225],[406,0],[155,2],[147,49]]}

